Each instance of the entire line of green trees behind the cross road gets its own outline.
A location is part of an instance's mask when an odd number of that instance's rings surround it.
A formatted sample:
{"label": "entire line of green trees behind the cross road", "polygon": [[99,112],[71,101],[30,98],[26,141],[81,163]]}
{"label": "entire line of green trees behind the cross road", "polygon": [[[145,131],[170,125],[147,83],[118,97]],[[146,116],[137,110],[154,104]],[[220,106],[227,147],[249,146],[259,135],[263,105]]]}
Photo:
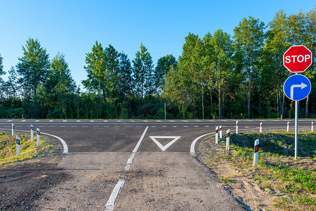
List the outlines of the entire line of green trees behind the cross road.
{"label": "entire line of green trees behind the cross road", "polygon": [[[294,103],[283,84],[291,75],[283,53],[293,45],[312,51],[303,72],[315,79],[316,7],[304,13],[279,11],[267,24],[249,16],[234,28],[203,37],[189,33],[182,55],[153,64],[141,44],[134,59],[96,41],[86,53],[87,79],[80,90],[63,53],[52,59],[37,39],[23,46],[18,64],[0,78],[1,118],[291,118]],[[5,75],[0,55],[0,75]],[[316,96],[300,101],[300,117],[316,117]]]}

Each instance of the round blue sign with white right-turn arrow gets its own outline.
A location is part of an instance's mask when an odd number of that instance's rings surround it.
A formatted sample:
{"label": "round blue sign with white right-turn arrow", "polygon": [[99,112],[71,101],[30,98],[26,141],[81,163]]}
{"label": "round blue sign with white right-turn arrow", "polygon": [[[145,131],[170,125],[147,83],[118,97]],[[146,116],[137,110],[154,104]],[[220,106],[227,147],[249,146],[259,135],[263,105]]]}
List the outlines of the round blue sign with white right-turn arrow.
{"label": "round blue sign with white right-turn arrow", "polygon": [[304,75],[292,75],[286,79],[283,86],[285,95],[292,101],[301,101],[310,94],[312,85]]}

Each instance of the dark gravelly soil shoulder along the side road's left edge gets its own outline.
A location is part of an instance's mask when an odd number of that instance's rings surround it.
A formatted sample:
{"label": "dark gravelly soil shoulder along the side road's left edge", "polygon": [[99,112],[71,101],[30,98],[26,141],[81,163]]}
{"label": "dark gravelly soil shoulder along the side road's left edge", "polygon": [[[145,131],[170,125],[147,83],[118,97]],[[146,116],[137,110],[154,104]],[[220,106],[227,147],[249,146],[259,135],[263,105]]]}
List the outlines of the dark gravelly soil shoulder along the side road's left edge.
{"label": "dark gravelly soil shoulder along the side road's left edge", "polygon": [[70,179],[70,175],[57,167],[63,156],[61,143],[49,136],[41,139],[53,148],[31,160],[0,167],[0,210],[39,210],[34,201],[49,200],[42,198],[43,193]]}

